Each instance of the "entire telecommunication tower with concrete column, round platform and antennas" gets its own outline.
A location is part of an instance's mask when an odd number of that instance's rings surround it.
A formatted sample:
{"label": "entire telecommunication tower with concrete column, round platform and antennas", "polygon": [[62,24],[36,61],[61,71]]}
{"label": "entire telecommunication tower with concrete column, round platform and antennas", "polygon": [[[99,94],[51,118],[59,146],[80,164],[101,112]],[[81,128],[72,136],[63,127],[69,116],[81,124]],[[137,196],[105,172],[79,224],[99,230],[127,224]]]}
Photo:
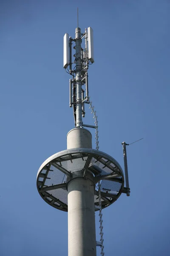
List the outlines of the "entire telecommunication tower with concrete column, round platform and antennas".
{"label": "entire telecommunication tower with concrete column, round platform and antennas", "polygon": [[[84,49],[82,39],[85,39]],[[72,48],[75,49],[74,61]],[[88,27],[81,33],[77,26],[75,38],[67,33],[64,35],[63,65],[72,77],[69,105],[73,108],[75,128],[67,134],[67,149],[45,160],[37,173],[37,189],[42,199],[52,207],[68,212],[68,256],[96,256],[96,246],[101,247],[104,256],[102,209],[113,204],[122,192],[130,195],[127,144],[122,143],[126,187],[119,163],[98,150],[98,121],[88,93],[88,68],[92,63],[93,29]],[[95,125],[82,121],[85,104],[94,114]],[[84,127],[96,129],[96,149],[92,149],[91,132]],[[99,242],[96,241],[95,211],[99,211]]]}

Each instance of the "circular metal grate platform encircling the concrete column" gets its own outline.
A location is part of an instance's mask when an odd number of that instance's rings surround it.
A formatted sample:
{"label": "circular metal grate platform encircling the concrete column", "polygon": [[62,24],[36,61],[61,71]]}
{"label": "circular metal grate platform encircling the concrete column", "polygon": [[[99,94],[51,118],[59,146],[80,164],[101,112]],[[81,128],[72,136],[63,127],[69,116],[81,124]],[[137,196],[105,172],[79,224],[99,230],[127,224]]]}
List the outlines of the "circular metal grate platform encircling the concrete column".
{"label": "circular metal grate platform encircling the concrete column", "polygon": [[68,180],[77,174],[83,177],[89,171],[94,175],[94,204],[96,210],[99,206],[96,183],[99,180],[101,183],[102,208],[113,204],[124,188],[122,168],[113,157],[102,151],[89,148],[72,148],[60,151],[45,160],[37,173],[38,192],[45,202],[67,212]]}

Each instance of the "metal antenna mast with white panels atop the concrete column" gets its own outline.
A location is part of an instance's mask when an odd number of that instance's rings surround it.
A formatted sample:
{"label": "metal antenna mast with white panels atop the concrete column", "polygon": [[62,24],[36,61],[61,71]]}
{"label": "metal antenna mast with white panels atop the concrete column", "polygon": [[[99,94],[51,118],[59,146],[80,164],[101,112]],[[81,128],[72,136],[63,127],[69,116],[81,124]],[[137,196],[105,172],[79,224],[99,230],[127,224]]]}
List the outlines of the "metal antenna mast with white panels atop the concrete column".
{"label": "metal antenna mast with white panels atop the concrete column", "polygon": [[[85,104],[91,103],[89,101],[90,97],[88,93],[88,67],[90,60],[88,58],[88,30],[85,29],[85,33],[81,33],[81,29],[78,27],[78,18],[77,7],[77,28],[75,38],[69,38],[69,70],[68,67],[66,67],[69,74],[72,75],[72,79],[69,80],[69,106],[73,106],[75,127],[88,127],[96,129],[97,125],[88,125],[83,124],[82,122],[82,117],[85,117]],[[85,38],[85,49],[81,47],[82,38]],[[73,48],[76,50],[76,53],[73,55],[75,57],[74,62],[72,62],[73,42],[75,42],[75,46]],[[72,64],[74,64],[73,69]],[[85,90],[82,88],[84,84]]]}

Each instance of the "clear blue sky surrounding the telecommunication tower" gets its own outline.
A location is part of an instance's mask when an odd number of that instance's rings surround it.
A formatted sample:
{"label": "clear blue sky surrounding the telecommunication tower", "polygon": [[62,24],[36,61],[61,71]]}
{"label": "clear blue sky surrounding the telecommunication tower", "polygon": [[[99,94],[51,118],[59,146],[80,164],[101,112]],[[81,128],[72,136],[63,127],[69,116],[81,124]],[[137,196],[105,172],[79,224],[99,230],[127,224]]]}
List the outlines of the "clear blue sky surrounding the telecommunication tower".
{"label": "clear blue sky surrounding the telecommunication tower", "polygon": [[[68,253],[67,213],[40,198],[36,175],[46,158],[66,149],[74,128],[62,43],[66,32],[74,37],[77,6],[82,31],[94,30],[89,93],[99,150],[123,167],[122,141],[144,137],[127,147],[130,197],[103,210],[105,255],[168,256],[168,0],[1,0],[0,255]],[[85,120],[93,124],[87,108]]]}

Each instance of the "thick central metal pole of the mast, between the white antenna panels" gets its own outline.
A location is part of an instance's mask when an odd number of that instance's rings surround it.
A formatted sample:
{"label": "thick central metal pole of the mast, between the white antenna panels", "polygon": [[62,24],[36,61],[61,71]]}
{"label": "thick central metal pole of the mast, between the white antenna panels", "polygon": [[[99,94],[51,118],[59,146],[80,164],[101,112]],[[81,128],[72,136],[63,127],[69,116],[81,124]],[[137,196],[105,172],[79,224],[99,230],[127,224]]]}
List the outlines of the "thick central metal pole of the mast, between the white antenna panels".
{"label": "thick central metal pole of the mast, between the white antenna panels", "polygon": [[81,29],[76,28],[76,127],[82,127]]}

